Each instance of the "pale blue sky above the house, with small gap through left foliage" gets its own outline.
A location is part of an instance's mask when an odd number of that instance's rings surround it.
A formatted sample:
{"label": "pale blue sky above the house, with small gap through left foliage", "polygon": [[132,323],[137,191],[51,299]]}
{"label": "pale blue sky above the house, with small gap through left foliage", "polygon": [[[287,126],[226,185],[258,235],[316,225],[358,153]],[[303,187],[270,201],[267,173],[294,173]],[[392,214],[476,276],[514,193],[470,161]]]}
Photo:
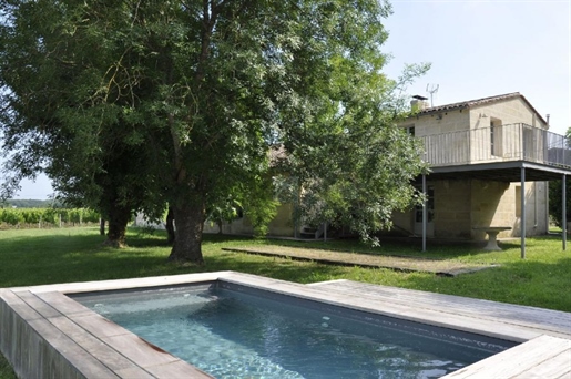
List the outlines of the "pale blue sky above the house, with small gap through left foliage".
{"label": "pale blue sky above the house, with small gap through left foliage", "polygon": [[[407,88],[434,105],[520,92],[550,131],[571,127],[571,0],[392,0],[384,21],[391,55],[385,68],[398,78],[405,64],[431,63]],[[24,181],[18,198],[44,199],[52,193],[40,176]]]}

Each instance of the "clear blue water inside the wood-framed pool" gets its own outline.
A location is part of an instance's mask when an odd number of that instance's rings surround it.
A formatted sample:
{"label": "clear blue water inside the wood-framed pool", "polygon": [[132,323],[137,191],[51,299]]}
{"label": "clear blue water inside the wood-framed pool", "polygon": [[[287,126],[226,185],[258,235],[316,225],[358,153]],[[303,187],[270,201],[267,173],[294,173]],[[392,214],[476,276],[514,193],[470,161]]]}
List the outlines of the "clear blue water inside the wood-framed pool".
{"label": "clear blue water inside the wood-framed pool", "polygon": [[438,378],[514,345],[241,286],[73,298],[216,378]]}

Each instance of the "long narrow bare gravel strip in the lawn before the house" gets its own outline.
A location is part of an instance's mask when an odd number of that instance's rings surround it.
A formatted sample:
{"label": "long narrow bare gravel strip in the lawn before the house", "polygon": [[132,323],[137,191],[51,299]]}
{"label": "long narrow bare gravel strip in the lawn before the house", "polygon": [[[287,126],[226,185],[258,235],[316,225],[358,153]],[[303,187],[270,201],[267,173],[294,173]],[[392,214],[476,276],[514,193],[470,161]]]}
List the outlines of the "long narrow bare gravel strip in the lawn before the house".
{"label": "long narrow bare gravel strip in the lawn before the house", "polygon": [[467,264],[448,259],[374,255],[287,246],[226,247],[223,248],[223,250],[314,260],[343,266],[379,267],[400,272],[421,272],[446,276],[457,276],[494,267],[492,265]]}

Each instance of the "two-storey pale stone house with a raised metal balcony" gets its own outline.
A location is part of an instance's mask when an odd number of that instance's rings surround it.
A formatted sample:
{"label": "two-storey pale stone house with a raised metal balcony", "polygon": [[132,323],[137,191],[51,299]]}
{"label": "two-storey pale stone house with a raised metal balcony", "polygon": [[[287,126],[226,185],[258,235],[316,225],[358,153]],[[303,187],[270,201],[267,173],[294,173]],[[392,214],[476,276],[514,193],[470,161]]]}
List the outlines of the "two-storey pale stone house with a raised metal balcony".
{"label": "two-storey pale stone house with a raised metal balcony", "polygon": [[[424,141],[431,172],[416,185],[428,201],[426,207],[395,214],[392,233],[475,240],[485,239],[482,228],[490,226],[510,228],[500,237],[548,233],[548,182],[571,174],[571,151],[523,95],[438,106],[415,96],[411,106],[414,115],[399,126]],[[299,236],[292,214],[293,206],[283,204],[269,234]],[[242,218],[223,232],[251,234],[252,227]]]}

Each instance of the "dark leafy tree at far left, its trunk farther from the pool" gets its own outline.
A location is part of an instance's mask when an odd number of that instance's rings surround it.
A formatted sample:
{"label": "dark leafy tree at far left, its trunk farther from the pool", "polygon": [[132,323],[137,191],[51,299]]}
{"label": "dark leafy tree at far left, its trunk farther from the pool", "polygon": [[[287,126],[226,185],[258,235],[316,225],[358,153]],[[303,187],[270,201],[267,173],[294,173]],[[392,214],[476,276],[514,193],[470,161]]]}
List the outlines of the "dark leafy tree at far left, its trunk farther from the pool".
{"label": "dark leafy tree at far left, its trunk farther from the pool", "polygon": [[156,181],[144,170],[155,161],[124,127],[129,115],[93,90],[113,51],[93,54],[99,28],[77,28],[89,16],[81,7],[7,1],[2,11],[0,117],[13,177],[3,195],[21,177],[45,171],[61,199],[98,209],[109,221],[106,243],[123,245],[133,212],[152,204],[152,214],[159,201],[146,202]]}

